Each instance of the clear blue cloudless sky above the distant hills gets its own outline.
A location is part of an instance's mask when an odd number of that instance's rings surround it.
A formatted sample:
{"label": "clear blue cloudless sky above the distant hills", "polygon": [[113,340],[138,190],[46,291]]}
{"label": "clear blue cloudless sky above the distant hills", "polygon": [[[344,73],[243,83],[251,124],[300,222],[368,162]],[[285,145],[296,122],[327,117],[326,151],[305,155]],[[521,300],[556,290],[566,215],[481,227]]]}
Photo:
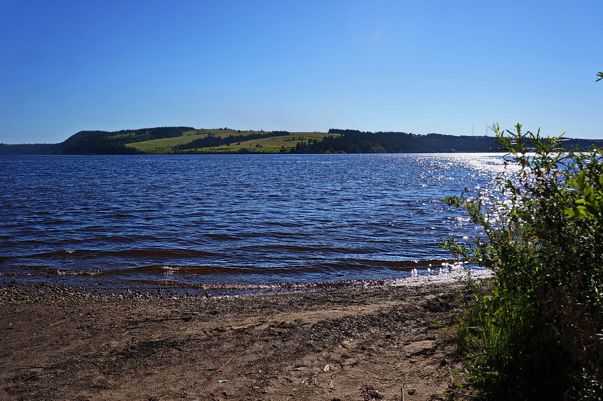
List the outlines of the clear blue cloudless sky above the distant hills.
{"label": "clear blue cloudless sky above the distant hills", "polygon": [[493,122],[603,137],[602,46],[602,0],[0,0],[0,142]]}

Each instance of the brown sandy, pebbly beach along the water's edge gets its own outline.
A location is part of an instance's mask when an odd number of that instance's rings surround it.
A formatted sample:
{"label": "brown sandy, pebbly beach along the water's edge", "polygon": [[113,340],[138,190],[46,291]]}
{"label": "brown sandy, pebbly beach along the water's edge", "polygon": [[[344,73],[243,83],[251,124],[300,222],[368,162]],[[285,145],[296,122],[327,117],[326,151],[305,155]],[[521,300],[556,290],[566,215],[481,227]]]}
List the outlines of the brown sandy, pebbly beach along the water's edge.
{"label": "brown sandy, pebbly beach along the water's edge", "polygon": [[461,286],[240,297],[0,287],[2,400],[443,400]]}

